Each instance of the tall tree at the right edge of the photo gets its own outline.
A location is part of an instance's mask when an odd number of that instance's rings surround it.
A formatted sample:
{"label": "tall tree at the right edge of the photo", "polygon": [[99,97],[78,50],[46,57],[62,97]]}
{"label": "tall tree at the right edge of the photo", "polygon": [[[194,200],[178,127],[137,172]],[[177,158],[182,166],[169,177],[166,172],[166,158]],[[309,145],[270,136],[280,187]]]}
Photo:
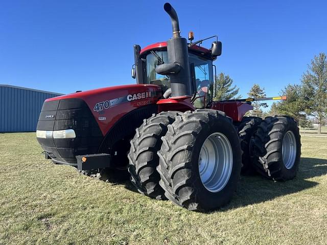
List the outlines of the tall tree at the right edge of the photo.
{"label": "tall tree at the right edge of the photo", "polygon": [[317,118],[318,134],[321,134],[321,125],[327,117],[327,58],[324,53],[311,60],[307,72],[302,75],[302,87],[306,112]]}

